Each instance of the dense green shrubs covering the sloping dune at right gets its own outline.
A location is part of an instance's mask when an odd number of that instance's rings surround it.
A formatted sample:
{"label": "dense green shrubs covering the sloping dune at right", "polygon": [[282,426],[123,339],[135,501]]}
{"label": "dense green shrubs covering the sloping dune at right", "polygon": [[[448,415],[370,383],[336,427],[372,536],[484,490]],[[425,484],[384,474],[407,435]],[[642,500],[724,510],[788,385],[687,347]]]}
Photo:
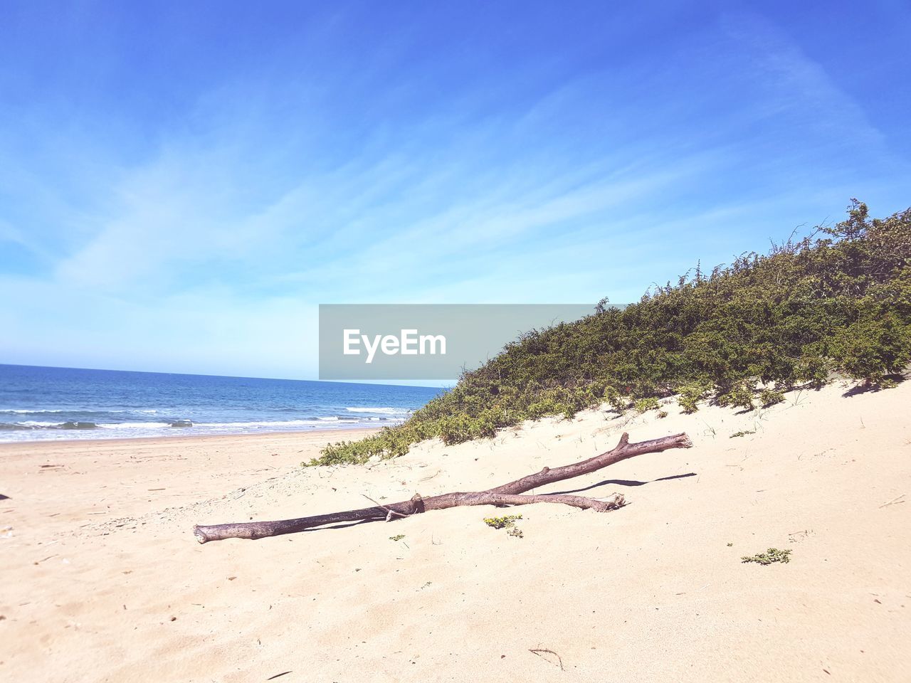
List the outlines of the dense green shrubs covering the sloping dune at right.
{"label": "dense green shrubs covering the sloping dune at right", "polygon": [[839,375],[887,388],[909,362],[911,209],[870,219],[854,199],[843,222],[766,254],[697,265],[630,306],[604,300],[579,321],[528,331],[407,422],[327,444],[307,464],[394,457],[604,403],[645,413],[675,396],[683,413],[706,401],[751,411]]}

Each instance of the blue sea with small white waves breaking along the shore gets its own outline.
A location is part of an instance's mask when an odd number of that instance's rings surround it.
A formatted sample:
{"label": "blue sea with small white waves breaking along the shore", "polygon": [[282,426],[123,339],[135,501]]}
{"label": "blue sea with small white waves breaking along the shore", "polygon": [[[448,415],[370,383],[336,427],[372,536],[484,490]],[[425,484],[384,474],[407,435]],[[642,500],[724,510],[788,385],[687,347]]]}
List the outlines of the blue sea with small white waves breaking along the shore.
{"label": "blue sea with small white waves breaking along the shore", "polygon": [[0,442],[377,427],[441,391],[0,364]]}

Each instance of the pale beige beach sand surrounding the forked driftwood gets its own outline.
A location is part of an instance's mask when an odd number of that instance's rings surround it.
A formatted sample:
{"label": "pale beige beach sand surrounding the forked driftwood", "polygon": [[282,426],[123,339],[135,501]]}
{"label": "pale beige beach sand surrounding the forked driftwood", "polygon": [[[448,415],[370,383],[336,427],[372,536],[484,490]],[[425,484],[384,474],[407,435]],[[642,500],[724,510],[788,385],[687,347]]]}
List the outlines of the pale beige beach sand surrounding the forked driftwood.
{"label": "pale beige beach sand surrounding the forked driftwood", "polygon": [[[909,681],[911,382],[844,391],[591,411],[363,467],[298,466],[339,433],[0,445],[0,678]],[[483,489],[623,431],[694,447],[548,486],[630,505],[517,508],[522,538],[493,507],[191,533]],[[742,564],[769,547],[791,562]]]}

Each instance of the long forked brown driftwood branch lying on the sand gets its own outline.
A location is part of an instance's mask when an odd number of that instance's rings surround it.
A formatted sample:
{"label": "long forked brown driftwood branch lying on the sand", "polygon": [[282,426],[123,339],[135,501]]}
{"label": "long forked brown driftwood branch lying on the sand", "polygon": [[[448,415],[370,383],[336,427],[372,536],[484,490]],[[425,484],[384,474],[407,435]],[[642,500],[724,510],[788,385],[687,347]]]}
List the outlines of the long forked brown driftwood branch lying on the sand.
{"label": "long forked brown driftwood branch lying on the sand", "polygon": [[496,486],[486,491],[470,493],[456,492],[452,494],[433,495],[427,498],[415,494],[411,500],[389,505],[376,505],[364,507],[359,510],[346,510],[329,515],[312,515],[298,517],[297,519],[280,519],[271,522],[241,522],[238,524],[194,526],[193,534],[200,543],[220,541],[224,538],[264,538],[282,534],[311,529],[315,526],[339,524],[344,522],[379,522],[391,521],[397,517],[418,515],[428,510],[445,510],[449,507],[462,505],[528,505],[531,503],[560,503],[572,505],[582,509],[592,509],[607,512],[623,505],[623,496],[615,495],[612,500],[599,501],[581,495],[524,494],[538,486],[553,484],[564,479],[571,479],[582,474],[596,472],[602,467],[619,463],[635,455],[646,453],[660,453],[671,448],[690,448],[690,437],[685,433],[664,436],[660,439],[630,443],[630,437],[624,433],[617,446],[607,453],[596,455],[581,463],[564,465],[563,467],[545,467],[537,474],[529,474],[514,482]]}

